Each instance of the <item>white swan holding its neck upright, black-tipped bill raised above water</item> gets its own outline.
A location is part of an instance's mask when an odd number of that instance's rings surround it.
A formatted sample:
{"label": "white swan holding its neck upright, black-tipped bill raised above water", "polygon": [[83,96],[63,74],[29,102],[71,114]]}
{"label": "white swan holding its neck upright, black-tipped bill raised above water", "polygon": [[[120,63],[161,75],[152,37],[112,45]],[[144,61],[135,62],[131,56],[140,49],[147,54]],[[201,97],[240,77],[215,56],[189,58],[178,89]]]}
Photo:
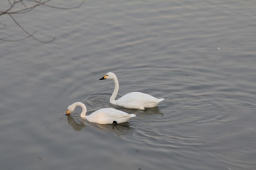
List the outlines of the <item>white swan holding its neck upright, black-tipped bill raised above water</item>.
{"label": "white swan holding its neck upright, black-tipped bill raised above water", "polygon": [[154,96],[150,96],[149,94],[144,94],[142,92],[131,92],[115,100],[119,90],[117,76],[114,73],[109,72],[100,80],[103,79],[114,79],[114,91],[110,97],[110,103],[114,105],[122,106],[124,108],[144,110],[145,108],[154,108],[159,104],[159,102],[164,101],[164,98],[155,98]]}

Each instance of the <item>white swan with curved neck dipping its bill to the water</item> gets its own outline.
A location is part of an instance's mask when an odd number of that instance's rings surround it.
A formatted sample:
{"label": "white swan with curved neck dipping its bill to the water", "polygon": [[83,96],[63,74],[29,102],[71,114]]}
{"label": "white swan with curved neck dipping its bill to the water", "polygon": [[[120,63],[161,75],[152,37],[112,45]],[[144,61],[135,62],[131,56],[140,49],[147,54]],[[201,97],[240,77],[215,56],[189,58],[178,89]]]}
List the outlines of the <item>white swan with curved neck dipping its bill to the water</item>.
{"label": "white swan with curved neck dipping its bill to the water", "polygon": [[86,119],[92,123],[99,124],[112,124],[112,123],[124,123],[127,122],[130,118],[135,117],[134,114],[128,114],[123,111],[119,111],[114,108],[101,108],[90,115],[85,115],[87,108],[84,103],[75,102],[72,105],[68,106],[68,110],[66,115],[69,115],[75,110],[76,106],[80,106],[82,108],[82,113],[80,114],[82,119]]}

